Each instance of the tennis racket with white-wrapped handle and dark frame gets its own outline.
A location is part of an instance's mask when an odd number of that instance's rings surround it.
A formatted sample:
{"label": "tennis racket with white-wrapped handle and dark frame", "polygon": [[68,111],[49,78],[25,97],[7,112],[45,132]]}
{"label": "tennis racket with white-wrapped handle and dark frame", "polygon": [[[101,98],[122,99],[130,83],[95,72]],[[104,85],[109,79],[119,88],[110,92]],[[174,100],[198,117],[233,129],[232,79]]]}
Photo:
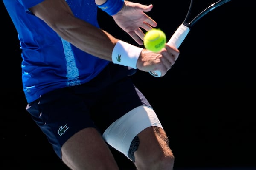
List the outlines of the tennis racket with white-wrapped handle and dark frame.
{"label": "tennis racket with white-wrapped handle and dark frame", "polygon": [[[198,0],[197,0],[198,1]],[[172,35],[172,37],[169,39],[169,41],[167,42],[168,45],[173,45],[175,48],[179,48],[179,46],[181,45],[181,43],[183,42],[183,40],[186,38],[187,34],[190,31],[190,28],[198,21],[200,20],[202,17],[204,17],[204,15],[206,15],[208,12],[214,10],[215,8],[217,8],[218,6],[223,5],[224,3],[227,3],[231,0],[214,0],[215,2],[212,3],[210,6],[208,6],[207,8],[204,8],[203,11],[201,11],[196,17],[194,17],[191,21],[189,21],[189,19],[191,19],[191,15],[192,15],[192,8],[194,5],[194,1],[191,0],[190,1],[190,5],[189,5],[189,10],[186,14],[185,20],[183,21],[183,23],[177,28],[177,30],[175,31],[175,33]],[[156,71],[150,71],[149,72],[151,75],[153,75],[154,77],[160,77],[161,76],[161,72],[159,70]]]}

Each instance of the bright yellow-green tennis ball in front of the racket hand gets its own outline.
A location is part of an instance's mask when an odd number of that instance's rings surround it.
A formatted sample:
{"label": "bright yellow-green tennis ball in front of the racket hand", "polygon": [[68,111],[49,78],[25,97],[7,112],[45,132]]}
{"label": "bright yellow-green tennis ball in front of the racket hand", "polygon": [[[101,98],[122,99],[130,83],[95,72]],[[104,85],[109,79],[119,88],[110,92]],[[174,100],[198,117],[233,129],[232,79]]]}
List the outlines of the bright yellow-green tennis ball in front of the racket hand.
{"label": "bright yellow-green tennis ball in front of the racket hand", "polygon": [[144,46],[146,49],[158,52],[160,51],[166,43],[166,35],[164,32],[157,28],[152,28],[145,33],[144,36]]}

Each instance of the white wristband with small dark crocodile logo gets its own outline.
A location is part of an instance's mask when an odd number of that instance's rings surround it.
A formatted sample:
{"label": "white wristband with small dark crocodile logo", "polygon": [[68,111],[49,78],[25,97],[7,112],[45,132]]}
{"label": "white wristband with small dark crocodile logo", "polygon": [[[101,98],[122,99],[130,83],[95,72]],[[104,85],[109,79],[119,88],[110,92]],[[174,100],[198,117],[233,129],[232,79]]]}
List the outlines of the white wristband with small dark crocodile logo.
{"label": "white wristband with small dark crocodile logo", "polygon": [[136,69],[137,60],[143,48],[119,40],[112,51],[112,62]]}

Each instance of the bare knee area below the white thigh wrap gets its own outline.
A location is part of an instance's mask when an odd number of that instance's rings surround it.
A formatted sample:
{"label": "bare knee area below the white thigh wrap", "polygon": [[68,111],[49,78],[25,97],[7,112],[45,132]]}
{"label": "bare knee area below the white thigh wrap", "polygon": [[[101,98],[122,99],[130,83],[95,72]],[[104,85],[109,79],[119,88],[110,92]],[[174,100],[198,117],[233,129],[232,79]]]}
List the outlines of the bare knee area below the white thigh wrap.
{"label": "bare knee area below the white thigh wrap", "polygon": [[172,170],[174,156],[166,132],[160,127],[148,127],[138,134],[139,147],[134,153],[138,169]]}

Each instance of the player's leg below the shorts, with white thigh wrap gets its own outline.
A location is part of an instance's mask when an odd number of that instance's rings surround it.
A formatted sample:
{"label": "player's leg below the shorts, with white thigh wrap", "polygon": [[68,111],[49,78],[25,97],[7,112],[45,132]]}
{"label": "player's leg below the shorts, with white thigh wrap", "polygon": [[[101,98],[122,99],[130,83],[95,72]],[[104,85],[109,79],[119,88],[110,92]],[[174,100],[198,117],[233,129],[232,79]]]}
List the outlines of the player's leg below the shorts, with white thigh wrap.
{"label": "player's leg below the shorts, with white thigh wrap", "polygon": [[113,122],[103,138],[138,170],[172,170],[174,156],[154,110],[138,106]]}

